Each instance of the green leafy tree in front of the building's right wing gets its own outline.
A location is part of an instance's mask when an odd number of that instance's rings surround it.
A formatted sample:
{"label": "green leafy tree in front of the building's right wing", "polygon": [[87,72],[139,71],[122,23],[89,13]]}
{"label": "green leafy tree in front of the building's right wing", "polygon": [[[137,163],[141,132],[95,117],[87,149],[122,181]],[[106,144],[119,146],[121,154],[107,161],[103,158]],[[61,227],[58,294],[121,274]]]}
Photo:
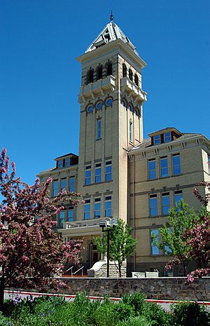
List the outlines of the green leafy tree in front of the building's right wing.
{"label": "green leafy tree in front of the building's right wing", "polygon": [[[186,231],[193,227],[193,223],[197,220],[197,215],[193,209],[188,210],[188,204],[181,200],[175,208],[169,210],[168,222],[159,229],[160,240],[153,234],[153,243],[163,250],[165,254],[174,256],[176,265],[183,266],[184,276],[187,275],[187,266],[190,262],[188,252],[190,245],[188,238],[183,238]],[[171,262],[166,265],[167,269],[172,269]]]}

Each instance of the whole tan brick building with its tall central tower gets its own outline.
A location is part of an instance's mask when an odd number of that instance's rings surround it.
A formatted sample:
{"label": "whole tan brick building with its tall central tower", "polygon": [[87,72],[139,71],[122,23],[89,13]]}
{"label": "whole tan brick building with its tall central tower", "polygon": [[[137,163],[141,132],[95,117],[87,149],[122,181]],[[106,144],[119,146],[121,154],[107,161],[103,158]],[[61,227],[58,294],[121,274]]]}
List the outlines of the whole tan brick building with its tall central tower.
{"label": "whole tan brick building with its tall central tower", "polygon": [[159,269],[168,257],[151,241],[167,222],[169,208],[183,198],[199,210],[193,187],[209,180],[210,142],[204,135],[164,128],[143,137],[142,69],[146,62],[111,21],[77,58],[82,67],[79,156],[55,158],[56,166],[38,174],[53,178],[51,196],[66,188],[83,196],[84,205],[66,206],[59,232],[84,238],[86,269],[100,259],[94,236],[104,218],[124,219],[138,240],[130,271]]}

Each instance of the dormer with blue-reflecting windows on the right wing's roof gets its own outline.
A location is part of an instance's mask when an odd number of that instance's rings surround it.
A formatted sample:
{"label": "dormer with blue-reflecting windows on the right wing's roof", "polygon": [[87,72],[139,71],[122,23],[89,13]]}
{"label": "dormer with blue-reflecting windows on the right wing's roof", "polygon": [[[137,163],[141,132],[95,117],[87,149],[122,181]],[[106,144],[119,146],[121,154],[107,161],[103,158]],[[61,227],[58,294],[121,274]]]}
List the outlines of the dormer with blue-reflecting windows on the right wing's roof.
{"label": "dormer with blue-reflecting windows on the right wing's roof", "polygon": [[151,145],[159,145],[159,144],[165,144],[167,142],[172,142],[173,140],[176,140],[177,138],[181,137],[183,135],[180,133],[179,130],[177,130],[174,127],[167,127],[158,131],[155,131],[154,133],[149,134],[148,136],[151,137]]}

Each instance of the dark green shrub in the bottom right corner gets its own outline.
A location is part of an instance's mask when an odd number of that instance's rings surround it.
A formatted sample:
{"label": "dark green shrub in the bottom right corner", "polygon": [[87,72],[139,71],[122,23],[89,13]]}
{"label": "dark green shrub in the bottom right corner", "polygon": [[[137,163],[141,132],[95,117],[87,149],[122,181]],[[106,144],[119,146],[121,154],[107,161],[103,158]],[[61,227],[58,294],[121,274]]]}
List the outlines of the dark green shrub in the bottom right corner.
{"label": "dark green shrub in the bottom right corner", "polygon": [[196,302],[179,302],[173,304],[173,326],[207,326],[210,324],[210,313],[207,308]]}

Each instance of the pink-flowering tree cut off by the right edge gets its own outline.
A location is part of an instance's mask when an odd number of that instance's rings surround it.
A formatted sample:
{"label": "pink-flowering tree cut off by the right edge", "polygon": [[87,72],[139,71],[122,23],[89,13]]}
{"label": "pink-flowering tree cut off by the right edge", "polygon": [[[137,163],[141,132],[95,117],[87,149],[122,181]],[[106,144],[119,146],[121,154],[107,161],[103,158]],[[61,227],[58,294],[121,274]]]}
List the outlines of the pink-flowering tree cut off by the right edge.
{"label": "pink-flowering tree cut off by the right edge", "polygon": [[[193,227],[183,234],[183,240],[189,250],[183,259],[192,259],[197,263],[197,269],[188,274],[188,282],[193,282],[195,277],[206,276],[210,273],[210,215],[207,206],[210,201],[210,182],[200,182],[198,186],[207,188],[207,193],[203,197],[198,189],[194,189],[197,199],[204,205],[200,215],[194,220]],[[179,263],[177,257],[167,264],[167,269]]]}

